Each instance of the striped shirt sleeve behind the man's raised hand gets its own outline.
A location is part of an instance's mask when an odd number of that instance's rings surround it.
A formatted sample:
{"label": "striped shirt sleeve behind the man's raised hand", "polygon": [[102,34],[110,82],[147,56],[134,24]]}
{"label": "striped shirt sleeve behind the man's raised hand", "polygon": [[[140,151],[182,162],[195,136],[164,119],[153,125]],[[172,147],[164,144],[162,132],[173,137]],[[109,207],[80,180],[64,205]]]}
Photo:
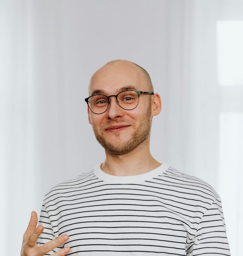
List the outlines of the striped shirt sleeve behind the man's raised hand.
{"label": "striped shirt sleeve behind the man's raised hand", "polygon": [[[44,227],[44,230],[42,231],[42,233],[40,234],[40,236],[36,242],[37,245],[40,247],[43,244],[50,242],[51,240],[54,240],[56,238],[50,218],[49,218],[47,210],[46,210],[46,206],[44,204],[44,201],[43,201],[41,211],[40,211],[38,226],[39,225],[42,225]],[[63,248],[63,245],[64,244],[59,245],[59,247],[54,248],[52,251],[50,251],[44,255],[52,255],[53,253],[60,251]]]}

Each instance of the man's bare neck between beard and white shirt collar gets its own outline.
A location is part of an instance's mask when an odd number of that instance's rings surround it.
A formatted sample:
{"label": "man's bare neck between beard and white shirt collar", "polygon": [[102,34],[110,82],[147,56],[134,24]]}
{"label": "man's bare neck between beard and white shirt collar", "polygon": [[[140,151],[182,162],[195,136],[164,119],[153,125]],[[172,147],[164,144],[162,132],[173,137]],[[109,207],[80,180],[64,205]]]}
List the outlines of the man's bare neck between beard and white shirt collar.
{"label": "man's bare neck between beard and white shirt collar", "polygon": [[139,175],[161,165],[150,153],[149,137],[126,154],[112,155],[107,151],[105,154],[106,159],[101,165],[101,170],[115,176]]}

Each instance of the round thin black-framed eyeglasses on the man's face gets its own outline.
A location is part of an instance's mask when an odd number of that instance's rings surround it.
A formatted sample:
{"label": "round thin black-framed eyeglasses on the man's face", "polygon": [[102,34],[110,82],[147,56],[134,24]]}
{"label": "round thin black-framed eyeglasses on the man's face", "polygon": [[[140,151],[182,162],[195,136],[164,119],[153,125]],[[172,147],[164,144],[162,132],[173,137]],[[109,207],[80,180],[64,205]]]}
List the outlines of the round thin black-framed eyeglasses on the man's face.
{"label": "round thin black-framed eyeglasses on the man's face", "polygon": [[90,110],[94,114],[102,114],[104,113],[110,104],[110,97],[115,96],[117,103],[120,105],[122,109],[132,110],[135,109],[139,102],[140,94],[154,94],[153,92],[148,91],[134,91],[134,90],[126,90],[121,91],[117,95],[106,96],[103,94],[92,95],[86,99],[84,99]]}

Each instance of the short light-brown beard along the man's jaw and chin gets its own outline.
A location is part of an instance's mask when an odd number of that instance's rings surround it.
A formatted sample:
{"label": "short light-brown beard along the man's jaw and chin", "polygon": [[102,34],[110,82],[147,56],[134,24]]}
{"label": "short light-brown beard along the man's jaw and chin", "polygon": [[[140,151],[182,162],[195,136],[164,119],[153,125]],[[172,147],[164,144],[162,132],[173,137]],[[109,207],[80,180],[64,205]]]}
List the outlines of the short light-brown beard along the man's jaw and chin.
{"label": "short light-brown beard along the man's jaw and chin", "polygon": [[130,138],[122,141],[119,139],[120,134],[117,133],[115,134],[117,140],[113,140],[113,143],[110,143],[108,140],[106,140],[104,136],[102,136],[102,134],[99,133],[98,129],[93,125],[92,128],[97,141],[106,151],[108,151],[112,155],[122,155],[132,151],[134,148],[136,148],[138,145],[140,145],[143,141],[145,141],[148,138],[152,125],[150,104],[146,113],[143,116],[141,116],[140,120],[140,123],[138,123],[137,125],[136,123],[133,123],[136,129],[130,135]]}

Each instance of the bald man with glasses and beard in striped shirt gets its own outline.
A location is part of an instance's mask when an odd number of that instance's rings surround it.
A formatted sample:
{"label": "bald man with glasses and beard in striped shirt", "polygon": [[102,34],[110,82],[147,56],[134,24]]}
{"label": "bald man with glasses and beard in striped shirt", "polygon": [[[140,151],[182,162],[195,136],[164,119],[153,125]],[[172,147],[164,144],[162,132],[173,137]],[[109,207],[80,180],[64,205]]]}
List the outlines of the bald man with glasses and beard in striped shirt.
{"label": "bald man with glasses and beard in striped shirt", "polygon": [[91,77],[85,101],[106,159],[48,191],[22,256],[230,255],[214,188],[150,153],[161,100],[148,73],[110,61]]}

